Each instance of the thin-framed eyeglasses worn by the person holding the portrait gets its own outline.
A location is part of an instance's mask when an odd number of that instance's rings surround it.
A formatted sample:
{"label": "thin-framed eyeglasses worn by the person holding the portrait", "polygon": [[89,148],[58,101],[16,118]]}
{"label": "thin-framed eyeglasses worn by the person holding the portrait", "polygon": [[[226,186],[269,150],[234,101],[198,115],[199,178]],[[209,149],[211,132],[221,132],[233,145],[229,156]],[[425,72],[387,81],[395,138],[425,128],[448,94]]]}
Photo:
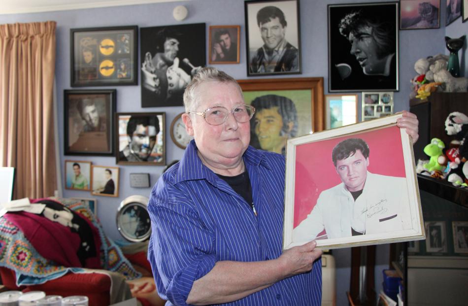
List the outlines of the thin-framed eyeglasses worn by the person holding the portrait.
{"label": "thin-framed eyeglasses worn by the person holding the portrait", "polygon": [[232,111],[228,111],[224,106],[213,106],[205,109],[204,112],[189,111],[189,113],[203,117],[205,121],[211,125],[223,124],[231,113],[238,123],[244,123],[253,117],[255,114],[255,107],[242,104],[235,106]]}

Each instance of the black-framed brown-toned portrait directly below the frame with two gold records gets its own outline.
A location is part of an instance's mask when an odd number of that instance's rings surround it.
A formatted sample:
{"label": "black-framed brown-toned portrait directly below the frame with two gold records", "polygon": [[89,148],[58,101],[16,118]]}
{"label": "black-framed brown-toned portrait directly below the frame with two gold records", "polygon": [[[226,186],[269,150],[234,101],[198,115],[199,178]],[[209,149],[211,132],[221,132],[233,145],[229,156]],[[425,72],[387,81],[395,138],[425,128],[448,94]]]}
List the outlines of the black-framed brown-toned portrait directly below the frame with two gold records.
{"label": "black-framed brown-toned portrait directly below the frame with two gold records", "polygon": [[114,155],[116,95],[115,89],[64,90],[65,155]]}

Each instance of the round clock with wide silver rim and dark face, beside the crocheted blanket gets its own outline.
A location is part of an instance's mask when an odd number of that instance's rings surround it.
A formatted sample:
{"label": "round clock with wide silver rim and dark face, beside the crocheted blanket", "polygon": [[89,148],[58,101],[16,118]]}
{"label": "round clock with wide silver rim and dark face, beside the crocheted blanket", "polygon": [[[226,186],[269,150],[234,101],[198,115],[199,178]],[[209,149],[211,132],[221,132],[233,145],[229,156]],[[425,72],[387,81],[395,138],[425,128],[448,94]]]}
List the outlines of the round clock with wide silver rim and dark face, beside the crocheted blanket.
{"label": "round clock with wide silver rim and dark face, beside the crocheted blanket", "polygon": [[125,239],[139,242],[151,236],[151,220],[146,210],[148,201],[143,196],[130,196],[120,203],[117,228]]}

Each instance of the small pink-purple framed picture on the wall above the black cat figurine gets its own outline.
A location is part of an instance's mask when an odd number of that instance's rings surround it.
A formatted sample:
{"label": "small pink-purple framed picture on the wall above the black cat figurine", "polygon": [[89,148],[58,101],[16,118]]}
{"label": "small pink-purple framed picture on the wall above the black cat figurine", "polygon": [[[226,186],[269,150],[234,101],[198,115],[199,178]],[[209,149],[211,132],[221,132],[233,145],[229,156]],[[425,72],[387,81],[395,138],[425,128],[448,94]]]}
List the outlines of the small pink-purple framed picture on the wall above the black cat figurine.
{"label": "small pink-purple framed picture on the wall above the black cat figurine", "polygon": [[440,28],[440,0],[401,0],[400,30]]}

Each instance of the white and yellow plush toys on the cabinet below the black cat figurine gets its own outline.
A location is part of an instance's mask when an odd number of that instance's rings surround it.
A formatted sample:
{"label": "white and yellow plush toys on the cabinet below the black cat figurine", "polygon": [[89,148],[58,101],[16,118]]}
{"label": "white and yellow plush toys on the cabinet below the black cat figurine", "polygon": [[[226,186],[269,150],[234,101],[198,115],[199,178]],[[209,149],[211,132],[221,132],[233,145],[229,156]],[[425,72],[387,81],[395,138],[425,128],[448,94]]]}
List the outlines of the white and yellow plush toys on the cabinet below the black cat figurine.
{"label": "white and yellow plush toys on the cabinet below the black cat figurine", "polygon": [[410,99],[426,99],[435,91],[448,93],[468,91],[468,78],[453,77],[447,71],[448,59],[448,55],[437,54],[416,61],[414,70],[418,74],[411,80]]}

